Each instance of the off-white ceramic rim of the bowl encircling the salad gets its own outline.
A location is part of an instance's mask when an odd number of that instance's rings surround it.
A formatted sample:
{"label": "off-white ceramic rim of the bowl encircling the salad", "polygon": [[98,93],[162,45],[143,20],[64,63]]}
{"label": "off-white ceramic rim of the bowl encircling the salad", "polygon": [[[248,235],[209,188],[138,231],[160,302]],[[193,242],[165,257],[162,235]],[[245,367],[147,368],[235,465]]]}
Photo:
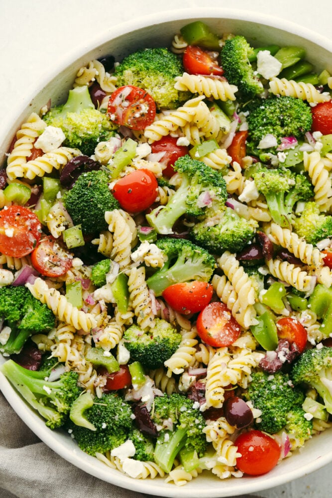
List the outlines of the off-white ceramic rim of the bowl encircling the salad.
{"label": "off-white ceramic rim of the bowl encircling the salad", "polygon": [[[43,73],[38,81],[38,84],[31,84],[27,87],[24,96],[12,109],[12,113],[8,114],[3,120],[3,129],[10,127],[10,124],[16,122],[23,114],[24,110],[31,105],[35,96],[47,86],[47,84],[53,80],[59,73],[62,73],[70,65],[73,65],[78,59],[83,57],[85,54],[92,50],[98,49],[99,46],[107,43],[108,41],[117,38],[118,36],[123,36],[126,33],[135,31],[141,28],[148,27],[152,24],[164,24],[166,22],[178,21],[182,19],[208,19],[208,18],[222,18],[225,20],[233,19],[238,21],[249,21],[255,22],[257,24],[263,24],[268,27],[273,27],[290,32],[296,36],[303,37],[310,42],[316,43],[326,50],[332,52],[332,40],[327,37],[313,31],[307,27],[303,27],[292,21],[282,19],[281,17],[272,16],[270,14],[259,13],[248,11],[244,9],[231,9],[223,7],[186,7],[178,10],[165,10],[157,13],[152,13],[144,16],[140,16],[134,20],[128,20],[125,22],[118,23],[112,26],[110,29],[104,30],[102,33],[94,36],[93,39],[89,41],[89,44],[69,50],[64,57],[61,59],[54,60],[51,67],[47,68],[47,71]],[[2,131],[1,131],[2,134]],[[3,137],[1,137],[3,138]],[[6,358],[0,355],[0,364],[2,364]],[[291,470],[286,472],[283,477],[271,476],[270,474],[259,476],[255,478],[244,477],[240,480],[232,478],[233,486],[231,489],[221,489],[211,490],[207,489],[202,491],[199,490],[199,494],[196,495],[192,487],[182,487],[181,490],[174,485],[166,485],[163,483],[162,486],[158,487],[153,481],[147,480],[137,480],[132,479],[119,471],[113,471],[110,469],[110,476],[114,474],[111,479],[106,479],[105,469],[107,467],[105,464],[99,462],[95,457],[84,454],[81,450],[77,451],[67,448],[61,441],[58,440],[56,434],[53,434],[44,422],[35,414],[25,403],[25,401],[19,396],[19,394],[14,390],[14,388],[9,384],[7,379],[2,373],[0,373],[0,390],[3,395],[11,405],[11,407],[16,411],[18,416],[23,420],[23,422],[53,451],[63,457],[66,461],[72,463],[81,470],[87,472],[88,474],[97,477],[109,484],[119,486],[124,489],[154,494],[157,496],[164,497],[174,497],[178,498],[210,498],[210,497],[231,497],[237,496],[242,493],[252,493],[257,491],[262,491],[265,489],[270,489],[281,484],[285,484],[294,479],[300,478],[306,474],[310,474],[319,468],[327,465],[332,461],[332,450],[324,456],[320,456],[316,460],[303,465],[301,468],[296,470]],[[68,436],[66,436],[68,437]],[[98,462],[98,465],[96,463]],[[243,485],[245,481],[245,486]],[[207,481],[208,482],[208,481]],[[223,481],[220,481],[221,483]],[[242,484],[241,484],[242,483]],[[245,488],[245,489],[243,489]],[[226,494],[223,494],[223,493]],[[216,494],[217,493],[217,494]]]}

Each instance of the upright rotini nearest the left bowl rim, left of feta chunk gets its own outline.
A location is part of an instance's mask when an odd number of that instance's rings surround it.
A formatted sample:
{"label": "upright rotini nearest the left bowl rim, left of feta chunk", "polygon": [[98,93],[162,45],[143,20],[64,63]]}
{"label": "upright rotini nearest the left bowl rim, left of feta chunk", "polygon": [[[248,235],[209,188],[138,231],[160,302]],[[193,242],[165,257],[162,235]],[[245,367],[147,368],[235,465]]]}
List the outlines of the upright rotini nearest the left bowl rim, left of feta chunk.
{"label": "upright rotini nearest the left bowl rim, left of feta chunk", "polygon": [[22,177],[24,166],[31,155],[33,144],[46,128],[46,123],[36,113],[30,114],[16,133],[14,147],[7,158],[6,172],[9,180]]}

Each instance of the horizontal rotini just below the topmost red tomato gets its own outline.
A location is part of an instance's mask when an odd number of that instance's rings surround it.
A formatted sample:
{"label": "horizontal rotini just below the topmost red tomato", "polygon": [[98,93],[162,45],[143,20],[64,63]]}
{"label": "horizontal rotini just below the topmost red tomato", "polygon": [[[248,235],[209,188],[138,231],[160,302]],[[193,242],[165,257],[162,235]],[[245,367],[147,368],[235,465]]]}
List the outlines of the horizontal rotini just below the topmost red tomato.
{"label": "horizontal rotini just below the topmost red tomato", "polygon": [[174,88],[177,90],[189,90],[191,93],[213,97],[224,102],[235,100],[235,92],[237,92],[235,85],[209,76],[183,73],[182,76],[177,76],[175,81]]}

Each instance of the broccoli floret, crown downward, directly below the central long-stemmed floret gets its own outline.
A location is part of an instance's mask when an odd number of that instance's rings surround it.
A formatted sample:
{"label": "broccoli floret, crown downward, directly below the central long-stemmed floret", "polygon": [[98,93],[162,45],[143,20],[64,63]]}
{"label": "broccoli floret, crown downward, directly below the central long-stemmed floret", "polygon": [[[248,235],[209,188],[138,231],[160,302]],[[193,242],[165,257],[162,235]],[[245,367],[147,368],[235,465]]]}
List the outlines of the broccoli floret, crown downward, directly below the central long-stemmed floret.
{"label": "broccoli floret, crown downward, directly below the central long-stemmed floret", "polygon": [[258,224],[240,217],[233,209],[225,208],[221,219],[213,224],[209,218],[197,223],[190,231],[193,242],[215,254],[225,250],[237,252],[252,241]]}

